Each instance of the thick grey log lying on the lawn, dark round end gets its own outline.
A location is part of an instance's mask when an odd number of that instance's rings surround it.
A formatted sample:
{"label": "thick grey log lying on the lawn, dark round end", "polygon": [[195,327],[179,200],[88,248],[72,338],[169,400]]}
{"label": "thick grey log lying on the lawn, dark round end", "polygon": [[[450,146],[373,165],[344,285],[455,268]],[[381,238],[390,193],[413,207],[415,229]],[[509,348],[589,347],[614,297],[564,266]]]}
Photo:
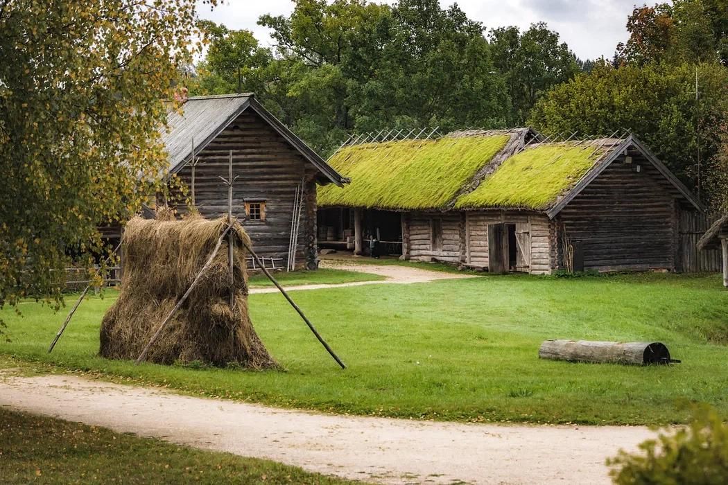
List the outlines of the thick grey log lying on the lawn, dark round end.
{"label": "thick grey log lying on the lawn, dark round end", "polygon": [[596,364],[672,364],[670,351],[660,342],[593,342],[590,340],[546,340],[539,358]]}

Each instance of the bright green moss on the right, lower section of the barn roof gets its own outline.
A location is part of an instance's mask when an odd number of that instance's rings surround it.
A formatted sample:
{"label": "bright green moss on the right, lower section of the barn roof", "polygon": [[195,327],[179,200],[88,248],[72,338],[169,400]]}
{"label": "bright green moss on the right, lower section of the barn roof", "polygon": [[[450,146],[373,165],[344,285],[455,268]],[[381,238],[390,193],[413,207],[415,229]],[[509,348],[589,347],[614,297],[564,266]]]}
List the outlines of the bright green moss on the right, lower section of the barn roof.
{"label": "bright green moss on the right, lower section of the barn roof", "polygon": [[574,187],[605,151],[571,143],[526,148],[504,161],[475,191],[460,197],[455,207],[547,209]]}

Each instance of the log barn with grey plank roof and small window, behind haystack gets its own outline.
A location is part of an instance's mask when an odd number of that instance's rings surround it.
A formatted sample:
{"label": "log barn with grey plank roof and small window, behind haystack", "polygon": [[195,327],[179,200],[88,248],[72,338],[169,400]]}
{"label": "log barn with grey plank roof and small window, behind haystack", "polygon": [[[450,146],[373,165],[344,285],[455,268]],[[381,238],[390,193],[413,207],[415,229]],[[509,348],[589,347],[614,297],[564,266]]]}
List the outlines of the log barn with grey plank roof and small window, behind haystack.
{"label": "log barn with grey plank roof and small window, behind haystack", "polygon": [[[317,186],[341,187],[347,179],[252,94],[189,97],[183,113],[170,111],[167,123],[162,140],[169,173],[191,190],[194,155],[194,205],[202,215],[227,213],[228,189],[220,177],[228,177],[232,151],[233,213],[258,255],[269,268],[294,260],[296,268],[316,268]],[[172,193],[170,204],[176,199],[176,209],[186,211]]]}

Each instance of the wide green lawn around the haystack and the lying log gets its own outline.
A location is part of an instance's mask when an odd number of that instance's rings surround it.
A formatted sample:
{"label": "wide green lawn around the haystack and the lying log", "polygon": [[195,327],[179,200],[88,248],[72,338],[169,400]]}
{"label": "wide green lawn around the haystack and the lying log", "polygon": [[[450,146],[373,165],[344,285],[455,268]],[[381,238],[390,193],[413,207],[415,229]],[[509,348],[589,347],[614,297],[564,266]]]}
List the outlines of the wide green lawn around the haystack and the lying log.
{"label": "wide green lawn around the haystack and the lying log", "polygon": [[[111,301],[79,308],[50,355],[65,310],[35,303],[0,316],[0,354],[44,372],[82,371],[205,396],[331,412],[438,420],[665,424],[682,401],[728,414],[728,292],[718,275],[481,276],[293,296],[349,369],[342,371],[280,294],[253,294],[258,333],[287,372],[108,361],[98,326]],[[542,340],[659,340],[682,364],[541,361]],[[111,377],[110,377],[111,376]]]}

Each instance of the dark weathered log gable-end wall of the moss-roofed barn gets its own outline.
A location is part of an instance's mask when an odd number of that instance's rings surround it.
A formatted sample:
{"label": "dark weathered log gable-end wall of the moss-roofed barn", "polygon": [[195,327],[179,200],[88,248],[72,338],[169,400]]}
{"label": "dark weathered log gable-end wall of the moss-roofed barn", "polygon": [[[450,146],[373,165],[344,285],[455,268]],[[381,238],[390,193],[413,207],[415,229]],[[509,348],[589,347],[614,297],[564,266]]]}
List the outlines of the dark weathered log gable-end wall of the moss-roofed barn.
{"label": "dark weathered log gable-end wall of the moss-roofed barn", "polygon": [[581,241],[585,270],[675,269],[678,198],[648,161],[617,159],[555,218],[558,267],[566,237]]}

